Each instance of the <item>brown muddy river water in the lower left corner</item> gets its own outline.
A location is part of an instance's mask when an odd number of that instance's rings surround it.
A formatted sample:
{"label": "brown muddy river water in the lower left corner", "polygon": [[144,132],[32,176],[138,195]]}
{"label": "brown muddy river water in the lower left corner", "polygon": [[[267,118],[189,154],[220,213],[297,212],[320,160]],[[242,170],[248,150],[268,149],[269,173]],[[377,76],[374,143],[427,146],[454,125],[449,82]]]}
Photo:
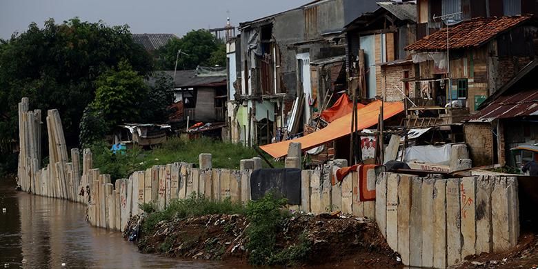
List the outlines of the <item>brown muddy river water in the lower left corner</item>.
{"label": "brown muddy river water in the lower left corner", "polygon": [[[84,206],[16,192],[0,178],[0,268],[237,268],[138,252],[119,232],[92,228]],[[244,268],[241,266],[241,268]]]}

